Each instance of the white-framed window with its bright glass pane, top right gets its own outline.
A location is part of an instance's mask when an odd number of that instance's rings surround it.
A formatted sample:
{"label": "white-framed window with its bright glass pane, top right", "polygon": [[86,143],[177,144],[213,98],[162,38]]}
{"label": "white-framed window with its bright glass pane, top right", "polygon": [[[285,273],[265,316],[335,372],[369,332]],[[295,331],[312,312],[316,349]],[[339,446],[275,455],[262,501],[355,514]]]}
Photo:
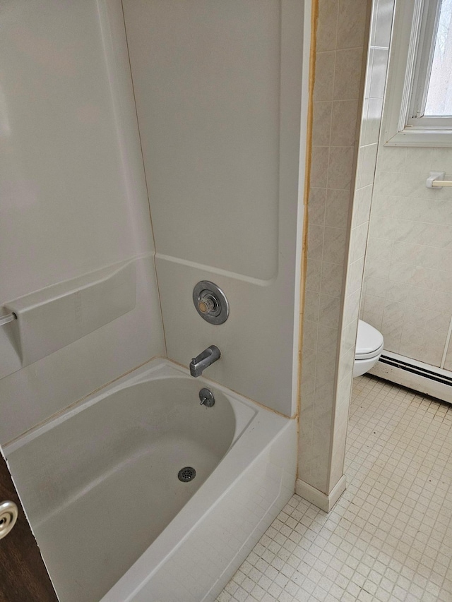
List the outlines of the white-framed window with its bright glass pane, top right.
{"label": "white-framed window with its bright glass pane, top right", "polygon": [[399,0],[386,145],[452,146],[452,0]]}

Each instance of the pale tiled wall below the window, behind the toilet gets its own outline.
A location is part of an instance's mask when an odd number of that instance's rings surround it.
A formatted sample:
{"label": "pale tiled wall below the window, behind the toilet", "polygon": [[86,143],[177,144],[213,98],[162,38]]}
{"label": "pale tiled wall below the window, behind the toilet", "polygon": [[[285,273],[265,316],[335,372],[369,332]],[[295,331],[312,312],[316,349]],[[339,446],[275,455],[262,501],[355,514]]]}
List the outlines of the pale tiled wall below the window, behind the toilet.
{"label": "pale tiled wall below the window, behind the toilet", "polygon": [[452,189],[426,188],[429,171],[452,176],[452,149],[380,145],[362,317],[385,349],[452,370]]}

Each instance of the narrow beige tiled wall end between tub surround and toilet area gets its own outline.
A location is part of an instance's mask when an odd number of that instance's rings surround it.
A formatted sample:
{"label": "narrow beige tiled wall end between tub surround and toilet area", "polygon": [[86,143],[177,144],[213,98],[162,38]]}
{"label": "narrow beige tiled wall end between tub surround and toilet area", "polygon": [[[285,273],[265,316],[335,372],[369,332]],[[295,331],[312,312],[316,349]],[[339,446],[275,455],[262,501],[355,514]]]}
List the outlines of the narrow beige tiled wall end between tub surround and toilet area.
{"label": "narrow beige tiled wall end between tub surround and toilet area", "polygon": [[326,495],[370,4],[319,0],[316,29],[298,478]]}

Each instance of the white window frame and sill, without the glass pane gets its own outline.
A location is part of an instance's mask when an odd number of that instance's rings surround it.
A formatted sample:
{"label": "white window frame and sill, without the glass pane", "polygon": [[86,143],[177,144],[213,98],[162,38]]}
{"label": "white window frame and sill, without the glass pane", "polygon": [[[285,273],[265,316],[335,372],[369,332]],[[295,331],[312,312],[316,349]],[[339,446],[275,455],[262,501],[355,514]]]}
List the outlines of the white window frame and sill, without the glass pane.
{"label": "white window frame and sill, without the glass pane", "polygon": [[452,117],[423,116],[441,0],[398,0],[386,88],[386,146],[452,147]]}

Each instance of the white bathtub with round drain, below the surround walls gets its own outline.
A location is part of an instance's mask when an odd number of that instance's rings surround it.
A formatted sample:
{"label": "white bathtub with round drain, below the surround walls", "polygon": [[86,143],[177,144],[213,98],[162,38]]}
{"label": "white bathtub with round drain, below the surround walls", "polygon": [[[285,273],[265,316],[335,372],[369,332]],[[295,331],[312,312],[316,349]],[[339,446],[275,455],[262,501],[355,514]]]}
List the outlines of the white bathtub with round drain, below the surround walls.
{"label": "white bathtub with round drain, below the surround walls", "polygon": [[292,495],[296,433],[158,359],[4,451],[61,602],[201,602]]}

